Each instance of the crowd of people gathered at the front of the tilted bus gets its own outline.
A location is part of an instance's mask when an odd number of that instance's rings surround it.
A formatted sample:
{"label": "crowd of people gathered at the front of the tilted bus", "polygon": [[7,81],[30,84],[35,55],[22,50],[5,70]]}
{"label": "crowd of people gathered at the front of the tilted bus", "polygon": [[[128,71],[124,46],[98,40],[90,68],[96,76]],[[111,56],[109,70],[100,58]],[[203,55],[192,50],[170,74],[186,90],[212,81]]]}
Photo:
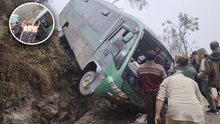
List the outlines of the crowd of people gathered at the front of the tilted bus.
{"label": "crowd of people gathered at the front of the tilted bus", "polygon": [[163,66],[155,62],[157,53],[147,52],[147,62],[137,69],[137,81],[144,96],[148,124],[202,124],[203,98],[210,108],[206,114],[218,114],[220,106],[211,88],[220,90],[219,43],[211,42],[210,49],[210,55],[204,48],[193,51],[189,58],[177,54],[169,77]]}

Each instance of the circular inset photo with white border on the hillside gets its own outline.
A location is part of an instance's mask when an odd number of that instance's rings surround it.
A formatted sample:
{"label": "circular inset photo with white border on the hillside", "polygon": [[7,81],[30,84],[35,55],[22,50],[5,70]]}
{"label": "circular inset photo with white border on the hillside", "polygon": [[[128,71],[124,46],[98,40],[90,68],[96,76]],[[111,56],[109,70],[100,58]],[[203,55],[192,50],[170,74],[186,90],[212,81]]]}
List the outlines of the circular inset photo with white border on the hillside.
{"label": "circular inset photo with white border on the hillside", "polygon": [[39,3],[25,3],[17,7],[9,19],[12,35],[20,42],[37,45],[46,41],[54,30],[51,11]]}

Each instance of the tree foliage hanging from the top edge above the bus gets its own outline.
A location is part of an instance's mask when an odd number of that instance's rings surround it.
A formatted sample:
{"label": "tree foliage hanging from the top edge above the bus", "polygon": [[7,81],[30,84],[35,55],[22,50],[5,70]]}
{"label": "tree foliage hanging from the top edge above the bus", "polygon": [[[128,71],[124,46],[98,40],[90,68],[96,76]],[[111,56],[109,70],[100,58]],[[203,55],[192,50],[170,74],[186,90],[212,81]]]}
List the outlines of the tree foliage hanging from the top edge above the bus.
{"label": "tree foliage hanging from the top edge above the bus", "polygon": [[[115,4],[119,0],[115,0],[112,4]],[[128,0],[132,7],[136,7],[138,10],[142,10],[144,7],[148,8],[148,2],[146,0]]]}

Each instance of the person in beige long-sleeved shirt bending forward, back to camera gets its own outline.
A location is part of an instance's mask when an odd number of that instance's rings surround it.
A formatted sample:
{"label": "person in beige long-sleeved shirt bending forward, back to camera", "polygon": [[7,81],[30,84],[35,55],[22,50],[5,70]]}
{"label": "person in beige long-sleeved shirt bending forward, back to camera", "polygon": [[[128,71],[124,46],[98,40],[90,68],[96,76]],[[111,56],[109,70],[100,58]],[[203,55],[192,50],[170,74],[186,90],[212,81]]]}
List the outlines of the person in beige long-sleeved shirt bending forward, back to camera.
{"label": "person in beige long-sleeved shirt bending forward, back to camera", "polygon": [[198,124],[204,122],[202,95],[197,83],[177,70],[163,80],[156,101],[155,122],[161,121],[164,100],[168,99],[168,124]]}

